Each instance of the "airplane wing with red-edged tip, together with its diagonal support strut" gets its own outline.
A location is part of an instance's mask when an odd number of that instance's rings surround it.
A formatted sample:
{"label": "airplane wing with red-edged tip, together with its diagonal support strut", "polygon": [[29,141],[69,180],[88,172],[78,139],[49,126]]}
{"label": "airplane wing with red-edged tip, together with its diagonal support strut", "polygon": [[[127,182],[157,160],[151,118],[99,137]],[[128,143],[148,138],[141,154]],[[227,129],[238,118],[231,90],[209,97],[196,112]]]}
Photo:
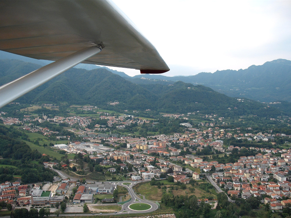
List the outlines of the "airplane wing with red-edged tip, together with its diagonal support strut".
{"label": "airplane wing with red-edged tip, together with its diagonal support strut", "polygon": [[[15,93],[7,102],[78,63],[139,69],[141,73],[169,71],[155,47],[107,0],[2,0],[0,21],[0,50],[61,62],[57,70],[47,65],[41,74],[32,72],[26,79],[17,79],[14,87],[10,83],[1,86],[0,102],[5,99],[1,96],[12,95],[11,90]],[[57,73],[48,73],[48,69]],[[20,93],[21,89],[25,91]]]}

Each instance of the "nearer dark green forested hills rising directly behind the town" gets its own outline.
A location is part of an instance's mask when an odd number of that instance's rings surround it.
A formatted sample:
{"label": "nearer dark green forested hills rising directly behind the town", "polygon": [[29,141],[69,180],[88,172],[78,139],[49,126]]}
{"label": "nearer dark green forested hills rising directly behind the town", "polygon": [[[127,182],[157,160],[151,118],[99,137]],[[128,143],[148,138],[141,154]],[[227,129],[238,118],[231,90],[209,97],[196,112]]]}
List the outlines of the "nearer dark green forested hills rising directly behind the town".
{"label": "nearer dark green forested hills rising directly behind the town", "polygon": [[[20,60],[0,60],[0,85],[23,76],[40,66]],[[110,102],[119,104],[111,106]],[[101,67],[93,70],[72,68],[17,99],[20,103],[94,105],[120,110],[203,114],[221,116],[290,115],[290,104],[275,107],[257,101],[238,100],[203,85],[182,81],[173,84],[136,84]]]}

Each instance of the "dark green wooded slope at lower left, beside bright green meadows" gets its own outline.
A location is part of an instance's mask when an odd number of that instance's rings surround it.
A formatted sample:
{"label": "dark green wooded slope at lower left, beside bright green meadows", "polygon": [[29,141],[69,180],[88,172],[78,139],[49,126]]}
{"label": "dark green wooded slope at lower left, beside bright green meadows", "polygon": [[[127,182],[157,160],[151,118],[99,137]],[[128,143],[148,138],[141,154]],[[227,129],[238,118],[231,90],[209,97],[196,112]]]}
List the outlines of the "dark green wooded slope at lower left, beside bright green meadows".
{"label": "dark green wooded slope at lower left, beside bright green meadows", "polygon": [[[37,150],[31,150],[20,139],[27,139],[27,136],[12,126],[9,129],[0,126],[0,156],[4,158],[0,160],[0,182],[13,180],[13,175],[21,176],[24,183],[53,181],[54,172],[42,165],[42,161],[48,161],[49,158],[42,157]],[[39,164],[33,163],[35,160]]]}

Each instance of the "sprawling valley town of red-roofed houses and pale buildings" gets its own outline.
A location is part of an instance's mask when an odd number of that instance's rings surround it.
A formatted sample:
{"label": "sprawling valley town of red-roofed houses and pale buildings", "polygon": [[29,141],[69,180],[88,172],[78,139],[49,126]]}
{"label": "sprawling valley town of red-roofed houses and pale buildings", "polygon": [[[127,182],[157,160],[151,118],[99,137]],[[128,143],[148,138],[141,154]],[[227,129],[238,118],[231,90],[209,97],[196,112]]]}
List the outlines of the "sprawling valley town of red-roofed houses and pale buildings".
{"label": "sprawling valley town of red-roofed houses and pale buildings", "polygon": [[[90,111],[94,107],[85,106],[82,110]],[[123,131],[133,125],[154,127],[159,125],[159,120],[111,115],[97,109],[94,112],[99,115],[98,120],[106,123],[95,124],[92,129],[88,128],[94,122],[92,117],[49,118],[42,114],[24,115],[20,120],[1,112],[6,126],[15,126],[28,135],[37,133],[62,142],[43,143],[41,146],[42,139],[39,137],[38,146],[65,156],[58,160],[42,153],[42,159],[47,160],[42,164],[58,172],[59,176],[46,183],[24,184],[20,178],[15,182],[5,181],[1,183],[0,202],[6,203],[5,206],[11,204],[13,208],[51,206],[51,212],[56,212],[63,202],[68,206],[86,203],[89,210],[94,211],[90,205],[95,205],[98,200],[103,204],[123,202],[126,198],[120,196],[119,199],[113,194],[115,190],[118,193],[120,185],[127,184],[123,185],[127,188],[144,181],[172,178],[173,184],[190,185],[191,181],[208,181],[217,193],[224,192],[232,203],[236,198],[246,200],[255,197],[273,211],[281,211],[291,203],[291,149],[288,144],[291,140],[285,142],[291,139],[291,135],[274,133],[273,129],[258,132],[253,127],[223,128],[227,119],[214,114],[201,116],[212,122],[199,121],[196,125],[182,122],[195,115],[191,112],[187,115],[162,115],[165,119],[181,120],[179,132],[136,137],[134,134],[111,131],[113,128]],[[290,118],[278,117],[274,120],[288,123]],[[62,124],[77,138],[72,140],[72,135],[61,135],[60,131],[36,125],[46,122]],[[80,160],[85,157],[85,162]],[[99,174],[101,172],[99,178],[86,178],[86,175],[97,171]],[[198,202],[201,201],[211,203],[206,198],[198,199]],[[215,202],[217,204],[216,199],[213,200]],[[68,208],[63,206],[63,212],[68,212]],[[81,208],[79,212],[83,211]],[[213,205],[215,208],[216,205]]]}

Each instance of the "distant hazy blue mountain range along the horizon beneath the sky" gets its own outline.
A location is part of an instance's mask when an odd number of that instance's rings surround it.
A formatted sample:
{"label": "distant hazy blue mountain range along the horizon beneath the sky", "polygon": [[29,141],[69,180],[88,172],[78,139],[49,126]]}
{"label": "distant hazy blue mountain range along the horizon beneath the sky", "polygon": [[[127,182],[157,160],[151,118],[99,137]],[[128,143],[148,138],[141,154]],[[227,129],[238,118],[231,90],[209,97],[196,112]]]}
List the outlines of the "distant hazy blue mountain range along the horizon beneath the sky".
{"label": "distant hazy blue mountain range along the horizon beneath the sky", "polygon": [[[0,59],[18,59],[24,62],[44,66],[50,61],[35,60],[4,51],[0,51]],[[177,81],[204,85],[230,97],[248,98],[261,102],[291,102],[291,61],[278,59],[263,65],[252,65],[247,69],[222,70],[214,73],[201,72],[194,76],[163,76],[162,74],[141,74],[134,77],[124,72],[89,64],[79,64],[75,68],[87,70],[106,69],[136,84],[170,85]]]}

